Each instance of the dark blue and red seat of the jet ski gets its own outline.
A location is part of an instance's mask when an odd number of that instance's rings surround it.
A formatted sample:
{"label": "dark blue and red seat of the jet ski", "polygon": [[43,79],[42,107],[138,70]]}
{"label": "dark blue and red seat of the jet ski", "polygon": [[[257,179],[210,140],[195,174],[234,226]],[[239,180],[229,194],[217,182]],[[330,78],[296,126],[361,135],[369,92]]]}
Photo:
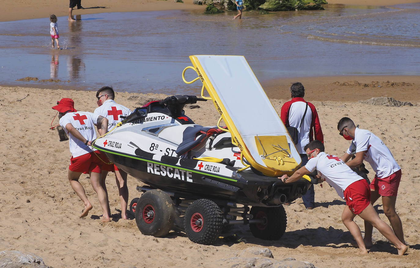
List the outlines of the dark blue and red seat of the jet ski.
{"label": "dark blue and red seat of the jet ski", "polygon": [[[226,128],[226,126],[225,126]],[[214,134],[221,134],[225,131],[219,129],[217,126],[189,126],[187,127],[182,136],[182,142],[179,144],[178,149],[176,149],[176,155],[185,154],[186,152],[191,151],[192,149],[198,147],[199,145],[205,145],[207,139]]]}

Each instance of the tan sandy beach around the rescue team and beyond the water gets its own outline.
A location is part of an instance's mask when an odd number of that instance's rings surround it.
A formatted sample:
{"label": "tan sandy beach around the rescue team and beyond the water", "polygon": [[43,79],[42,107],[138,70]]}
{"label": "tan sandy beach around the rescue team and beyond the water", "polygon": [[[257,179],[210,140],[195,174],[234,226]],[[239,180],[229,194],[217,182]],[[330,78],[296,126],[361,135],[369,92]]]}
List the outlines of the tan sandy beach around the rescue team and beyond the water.
{"label": "tan sandy beach around the rescue team and beyond the water", "polygon": [[[417,1],[405,0],[403,3]],[[329,3],[352,5],[395,5],[396,0],[332,0]],[[87,8],[76,14],[152,11],[172,9],[202,9],[204,6],[184,0],[173,1],[82,1]],[[92,7],[92,8],[91,8]],[[88,9],[89,8],[89,9]],[[50,13],[66,16],[68,1],[50,3],[45,0],[4,0],[0,21],[47,17]],[[298,199],[285,207],[288,216],[286,233],[279,241],[256,239],[248,226],[235,226],[230,234],[244,238],[234,243],[218,239],[210,246],[189,241],[182,232],[171,232],[165,238],[144,236],[135,220],[122,220],[115,179],[108,175],[107,188],[113,219],[100,221],[101,209],[97,196],[82,175],[89,200],[94,208],[86,218],[79,218],[83,203],[71,189],[67,179],[70,159],[68,142],[59,142],[56,130],[50,129],[55,116],[51,109],[63,97],[72,98],[75,108],[93,112],[96,105],[93,91],[1,87],[0,160],[0,252],[18,250],[42,257],[50,267],[256,267],[294,258],[313,263],[315,267],[418,267],[420,263],[420,171],[415,156],[420,151],[420,79],[419,76],[333,76],[276,79],[262,84],[278,112],[289,100],[290,82],[301,81],[307,89],[305,99],[318,110],[325,139],[325,151],[342,155],[349,145],[337,134],[337,122],[343,116],[352,118],[363,129],[380,137],[402,167],[402,181],[396,209],[402,220],[409,250],[396,255],[393,247],[377,230],[374,246],[367,255],[357,255],[351,246],[352,236],[341,222],[344,202],[326,183],[315,186],[316,208],[305,210]],[[102,85],[98,85],[98,88]],[[197,86],[197,92],[199,91]],[[151,100],[161,100],[162,94],[117,92],[115,100],[128,108],[136,108]],[[176,92],[173,92],[176,94]],[[414,106],[388,107],[359,102],[372,97],[393,97]],[[200,108],[186,109],[186,115],[203,126],[215,125],[218,113],[211,102]],[[57,119],[56,119],[57,120]],[[54,122],[56,125],[58,122]],[[369,178],[373,178],[373,171]],[[136,187],[142,183],[128,178],[129,201],[139,197]],[[380,201],[375,205],[381,218]],[[363,222],[356,217],[363,230]],[[268,248],[273,258],[243,253],[250,248]],[[236,265],[237,266],[233,266]],[[296,264],[295,264],[296,265]],[[6,266],[7,267],[7,266]],[[268,267],[268,266],[264,266]],[[278,267],[278,266],[271,266]],[[292,266],[298,267],[298,266]]]}

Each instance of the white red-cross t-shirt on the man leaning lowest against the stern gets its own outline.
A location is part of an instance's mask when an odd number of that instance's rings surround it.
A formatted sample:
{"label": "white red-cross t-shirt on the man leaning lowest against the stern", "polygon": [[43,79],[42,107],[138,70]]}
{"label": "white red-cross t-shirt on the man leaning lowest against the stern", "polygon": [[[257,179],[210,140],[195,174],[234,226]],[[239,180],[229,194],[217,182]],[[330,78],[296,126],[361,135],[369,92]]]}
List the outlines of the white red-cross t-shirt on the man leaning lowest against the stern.
{"label": "white red-cross t-shirt on the man leaning lowest against the stern", "polygon": [[323,179],[336,189],[337,194],[344,198],[344,190],[354,181],[363,179],[352,171],[340,158],[320,152],[316,157],[306,163],[305,168],[313,172],[318,170]]}

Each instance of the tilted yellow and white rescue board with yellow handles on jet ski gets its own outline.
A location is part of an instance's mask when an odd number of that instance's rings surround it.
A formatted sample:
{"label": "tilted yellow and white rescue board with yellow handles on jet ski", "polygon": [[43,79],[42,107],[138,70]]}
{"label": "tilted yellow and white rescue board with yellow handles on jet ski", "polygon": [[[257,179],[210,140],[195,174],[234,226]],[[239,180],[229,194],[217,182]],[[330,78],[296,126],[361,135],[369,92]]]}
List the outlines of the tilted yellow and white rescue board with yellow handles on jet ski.
{"label": "tilted yellow and white rescue board with yellow handles on jet ski", "polygon": [[[241,150],[242,163],[244,157],[247,167],[266,176],[291,176],[300,166],[299,152],[244,56],[189,58],[194,67],[185,68],[182,79],[187,84],[202,81],[202,97],[213,100],[220,113],[218,125],[222,119],[226,123],[232,143]],[[194,69],[198,77],[186,81],[187,69]],[[204,89],[210,97],[204,96]]]}

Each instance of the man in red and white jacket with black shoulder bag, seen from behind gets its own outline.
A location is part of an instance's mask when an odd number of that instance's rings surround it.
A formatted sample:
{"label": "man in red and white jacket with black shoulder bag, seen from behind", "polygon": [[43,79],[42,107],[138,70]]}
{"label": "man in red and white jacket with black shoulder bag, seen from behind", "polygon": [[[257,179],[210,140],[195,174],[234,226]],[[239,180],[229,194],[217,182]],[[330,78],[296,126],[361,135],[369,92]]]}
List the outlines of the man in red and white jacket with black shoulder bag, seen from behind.
{"label": "man in red and white jacket with black shoulder bag, seen from behind", "polygon": [[[304,166],[308,158],[303,148],[314,139],[318,139],[323,143],[324,135],[322,134],[321,124],[315,106],[303,99],[305,88],[302,83],[293,83],[290,87],[290,92],[292,99],[283,104],[280,117],[286,127],[294,126],[299,131],[296,149],[302,158],[301,166]],[[302,195],[302,200],[305,208],[314,208],[315,191],[313,186],[308,189],[306,194]]]}

